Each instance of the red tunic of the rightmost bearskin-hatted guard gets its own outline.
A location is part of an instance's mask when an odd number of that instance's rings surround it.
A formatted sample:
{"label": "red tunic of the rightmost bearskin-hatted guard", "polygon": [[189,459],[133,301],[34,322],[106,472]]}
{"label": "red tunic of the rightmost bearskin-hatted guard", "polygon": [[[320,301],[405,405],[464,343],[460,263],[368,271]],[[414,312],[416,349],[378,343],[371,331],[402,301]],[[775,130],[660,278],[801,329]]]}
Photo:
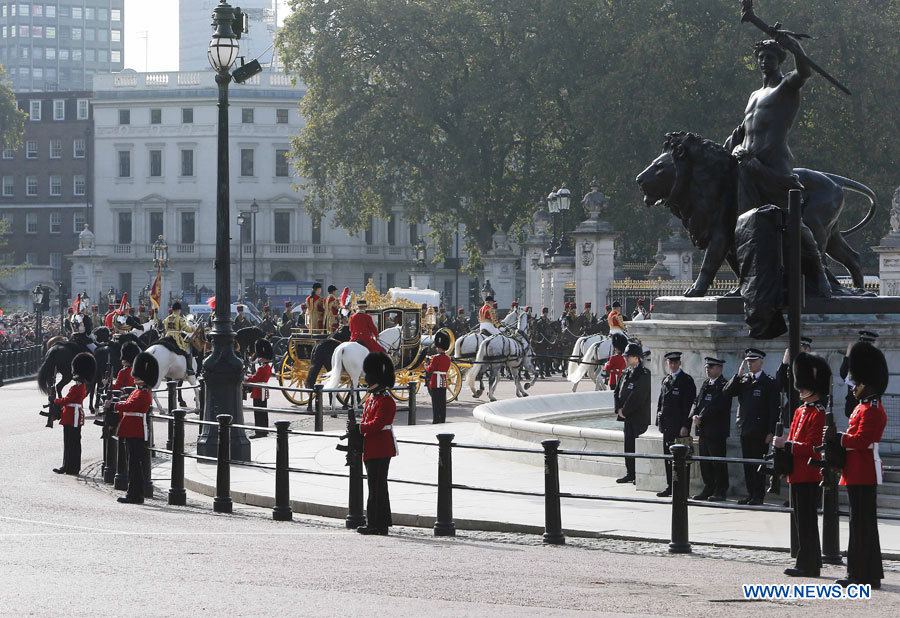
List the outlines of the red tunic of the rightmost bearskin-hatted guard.
{"label": "red tunic of the rightmost bearskin-hatted guard", "polygon": [[[873,445],[881,441],[887,425],[887,413],[878,399],[859,402],[850,415],[841,446],[847,459],[841,473],[841,485],[877,485],[881,480],[881,462],[875,461]],[[876,470],[875,466],[878,466]]]}

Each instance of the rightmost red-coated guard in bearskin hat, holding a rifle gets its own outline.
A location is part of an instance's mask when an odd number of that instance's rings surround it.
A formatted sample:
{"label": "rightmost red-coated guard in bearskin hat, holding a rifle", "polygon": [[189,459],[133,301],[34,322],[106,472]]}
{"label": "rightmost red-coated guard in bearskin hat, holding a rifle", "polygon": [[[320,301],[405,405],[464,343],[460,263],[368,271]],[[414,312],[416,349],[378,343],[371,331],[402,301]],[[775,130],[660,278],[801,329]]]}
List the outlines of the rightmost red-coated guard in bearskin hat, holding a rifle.
{"label": "rightmost red-coated guard in bearskin hat, holding a rifle", "polygon": [[[846,452],[841,470],[841,485],[850,499],[850,538],[847,543],[847,577],[837,580],[842,586],[870,584],[880,588],[884,579],[881,543],[878,538],[877,487],[882,483],[878,443],[887,425],[887,413],[881,397],[888,386],[888,366],[884,353],[868,341],[859,341],[847,355],[853,396],[859,400],[850,415],[847,431],[833,439],[831,447]],[[826,445],[826,456],[827,456]]]}

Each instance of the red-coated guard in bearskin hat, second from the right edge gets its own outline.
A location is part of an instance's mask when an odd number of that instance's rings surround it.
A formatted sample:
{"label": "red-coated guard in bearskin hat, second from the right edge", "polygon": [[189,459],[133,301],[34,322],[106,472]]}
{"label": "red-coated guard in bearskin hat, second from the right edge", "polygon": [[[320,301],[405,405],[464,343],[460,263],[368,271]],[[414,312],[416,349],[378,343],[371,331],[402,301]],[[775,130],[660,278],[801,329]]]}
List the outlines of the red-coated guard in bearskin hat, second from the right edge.
{"label": "red-coated guard in bearskin hat, second from the right edge", "polygon": [[[791,517],[794,519],[791,539],[797,560],[793,568],[784,570],[791,577],[818,577],[822,568],[822,547],[816,506],[822,470],[811,464],[819,459],[828,398],[831,396],[831,368],[828,362],[812,354],[801,352],[791,369],[794,388],[800,393],[801,404],[794,413],[788,436],[775,436],[775,468],[786,473],[791,486]],[[779,464],[780,461],[784,463]]]}

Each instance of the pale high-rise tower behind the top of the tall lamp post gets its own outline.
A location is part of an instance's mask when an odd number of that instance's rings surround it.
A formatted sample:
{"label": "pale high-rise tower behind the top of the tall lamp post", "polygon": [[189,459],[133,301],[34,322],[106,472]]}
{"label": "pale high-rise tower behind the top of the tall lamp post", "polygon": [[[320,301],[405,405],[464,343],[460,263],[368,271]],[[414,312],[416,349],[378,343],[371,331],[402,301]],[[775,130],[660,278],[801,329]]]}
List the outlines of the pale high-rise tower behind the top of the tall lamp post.
{"label": "pale high-rise tower behind the top of the tall lamp post", "polygon": [[[212,13],[218,0],[180,0],[178,3],[178,68],[181,71],[210,69],[206,50],[212,34]],[[241,37],[241,55],[247,61],[260,57],[260,62],[272,59],[278,4],[274,0],[233,0],[250,20],[250,33]]]}

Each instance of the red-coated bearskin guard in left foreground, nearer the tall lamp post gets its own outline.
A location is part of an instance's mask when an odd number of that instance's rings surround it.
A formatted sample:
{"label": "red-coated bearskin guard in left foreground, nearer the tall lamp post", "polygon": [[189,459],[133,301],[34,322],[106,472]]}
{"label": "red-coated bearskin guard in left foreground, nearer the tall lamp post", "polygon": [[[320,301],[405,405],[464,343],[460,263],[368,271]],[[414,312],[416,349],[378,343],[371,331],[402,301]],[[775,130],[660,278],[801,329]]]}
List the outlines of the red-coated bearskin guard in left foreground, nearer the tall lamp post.
{"label": "red-coated bearskin guard in left foreground, nearer the tall lamp post", "polygon": [[118,498],[127,504],[143,504],[144,488],[149,484],[150,470],[144,457],[146,441],[149,436],[147,414],[153,406],[153,394],[150,389],[159,381],[159,364],[146,352],[141,352],[134,359],[131,370],[134,384],[137,386],[128,399],[115,405],[119,413],[118,437],[125,440],[128,453],[128,491]]}

